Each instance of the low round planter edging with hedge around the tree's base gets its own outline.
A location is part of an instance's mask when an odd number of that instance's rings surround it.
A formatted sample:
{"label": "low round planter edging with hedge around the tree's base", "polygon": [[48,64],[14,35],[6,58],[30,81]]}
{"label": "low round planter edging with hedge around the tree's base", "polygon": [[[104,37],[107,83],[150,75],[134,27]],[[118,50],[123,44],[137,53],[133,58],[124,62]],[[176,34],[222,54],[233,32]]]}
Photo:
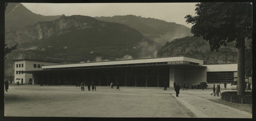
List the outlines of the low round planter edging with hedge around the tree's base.
{"label": "low round planter edging with hedge around the tree's base", "polygon": [[235,103],[252,103],[252,93],[251,92],[245,92],[245,95],[237,95],[237,91],[233,92],[222,92],[221,93],[221,99],[224,101],[230,101]]}

